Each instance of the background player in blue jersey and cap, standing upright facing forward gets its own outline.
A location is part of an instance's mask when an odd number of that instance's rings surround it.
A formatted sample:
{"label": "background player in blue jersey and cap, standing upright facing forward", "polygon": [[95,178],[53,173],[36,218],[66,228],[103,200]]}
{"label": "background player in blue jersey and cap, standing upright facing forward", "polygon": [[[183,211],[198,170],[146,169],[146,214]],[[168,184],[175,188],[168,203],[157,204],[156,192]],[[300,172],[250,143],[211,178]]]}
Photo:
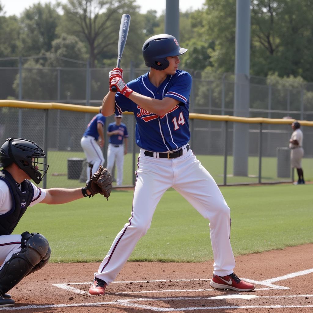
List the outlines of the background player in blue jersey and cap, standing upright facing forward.
{"label": "background player in blue jersey and cap, standing upright facing forward", "polygon": [[[124,155],[127,154],[127,138],[129,137],[126,125],[122,123],[122,118],[122,115],[115,114],[115,122],[109,124],[107,131],[109,145],[106,168],[112,173],[115,161],[117,168],[117,186],[121,186],[123,181]],[[123,141],[125,142],[125,145]]]}

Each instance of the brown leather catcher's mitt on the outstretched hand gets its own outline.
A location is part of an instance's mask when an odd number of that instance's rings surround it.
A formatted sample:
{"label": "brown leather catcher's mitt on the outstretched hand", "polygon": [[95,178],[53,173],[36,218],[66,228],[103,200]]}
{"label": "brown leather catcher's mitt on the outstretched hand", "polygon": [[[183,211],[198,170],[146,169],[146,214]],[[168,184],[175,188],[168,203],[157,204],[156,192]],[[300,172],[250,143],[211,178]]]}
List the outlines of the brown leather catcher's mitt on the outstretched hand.
{"label": "brown leather catcher's mitt on the outstretched hand", "polygon": [[98,171],[95,172],[86,183],[86,189],[91,192],[90,196],[100,193],[106,198],[106,200],[109,200],[108,198],[110,197],[112,190],[112,181],[111,173],[100,165]]}

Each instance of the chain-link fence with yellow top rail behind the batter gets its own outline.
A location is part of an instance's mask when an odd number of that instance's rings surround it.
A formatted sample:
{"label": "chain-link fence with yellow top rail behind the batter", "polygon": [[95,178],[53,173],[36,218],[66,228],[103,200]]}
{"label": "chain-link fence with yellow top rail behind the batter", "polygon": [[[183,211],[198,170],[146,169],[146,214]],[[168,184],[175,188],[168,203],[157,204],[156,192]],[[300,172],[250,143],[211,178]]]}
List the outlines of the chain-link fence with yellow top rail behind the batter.
{"label": "chain-link fence with yellow top rail behind the batter", "polygon": [[[26,105],[28,108],[25,108]],[[45,106],[47,108],[44,108]],[[39,104],[0,100],[0,143],[2,144],[10,137],[20,137],[35,141],[46,151],[49,171],[44,182],[41,183],[42,187],[81,186],[85,179],[81,179],[82,174],[85,173],[83,169],[85,154],[80,146],[80,139],[88,122],[98,112],[98,106],[64,105],[62,110],[53,109],[51,104],[40,104],[41,109],[36,109],[36,107],[39,107]],[[78,110],[77,107],[80,109]],[[191,149],[218,185],[292,181],[290,151],[287,148],[292,133],[290,122],[287,124],[286,120],[281,120],[285,124],[281,124],[281,121],[277,121],[277,124],[268,124],[264,120],[264,122],[255,123],[251,119],[251,123],[246,124],[249,132],[249,149],[246,156],[248,173],[239,176],[234,175],[233,171],[235,122],[229,121],[226,117],[218,117],[220,120],[214,116],[205,117],[207,120],[197,114],[190,116]],[[113,115],[107,117],[104,127],[105,161],[108,143],[106,130],[109,123],[113,121]],[[123,123],[126,124],[130,135],[128,153],[124,161],[123,186],[133,186],[140,150],[135,144],[134,116],[126,112]],[[306,122],[305,125],[301,126],[305,150],[303,167],[306,177],[313,177],[311,166],[313,122]]]}

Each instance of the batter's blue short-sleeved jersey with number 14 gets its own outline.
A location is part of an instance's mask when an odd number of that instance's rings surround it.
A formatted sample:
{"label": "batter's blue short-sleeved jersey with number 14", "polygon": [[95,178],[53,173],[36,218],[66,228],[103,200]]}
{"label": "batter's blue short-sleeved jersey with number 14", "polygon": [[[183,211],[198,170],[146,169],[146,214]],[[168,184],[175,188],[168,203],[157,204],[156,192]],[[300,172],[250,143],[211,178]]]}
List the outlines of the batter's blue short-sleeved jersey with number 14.
{"label": "batter's blue short-sleeved jersey with number 14", "polygon": [[167,114],[159,116],[144,110],[129,98],[117,92],[115,95],[115,113],[134,112],[136,118],[136,143],[143,149],[154,152],[177,150],[188,143],[189,131],[189,95],[192,78],[185,71],[177,70],[159,87],[151,84],[148,73],[132,80],[127,85],[134,91],[150,98],[162,100],[170,97],[180,101]]}

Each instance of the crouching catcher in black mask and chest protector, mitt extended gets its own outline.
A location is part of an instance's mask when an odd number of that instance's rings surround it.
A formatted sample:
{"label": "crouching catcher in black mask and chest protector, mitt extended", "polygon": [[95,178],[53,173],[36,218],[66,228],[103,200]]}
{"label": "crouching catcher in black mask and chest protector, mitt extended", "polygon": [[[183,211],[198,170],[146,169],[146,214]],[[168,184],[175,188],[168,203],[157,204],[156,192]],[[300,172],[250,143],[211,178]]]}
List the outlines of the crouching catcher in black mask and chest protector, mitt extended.
{"label": "crouching catcher in black mask and chest protector, mitt extended", "polygon": [[97,193],[108,199],[112,190],[111,174],[101,166],[83,188],[39,188],[30,180],[42,181],[49,165],[39,161],[45,157],[35,142],[26,139],[9,138],[0,148],[0,308],[13,306],[7,292],[50,258],[43,235],[12,234],[26,209],[36,203],[68,203]]}

